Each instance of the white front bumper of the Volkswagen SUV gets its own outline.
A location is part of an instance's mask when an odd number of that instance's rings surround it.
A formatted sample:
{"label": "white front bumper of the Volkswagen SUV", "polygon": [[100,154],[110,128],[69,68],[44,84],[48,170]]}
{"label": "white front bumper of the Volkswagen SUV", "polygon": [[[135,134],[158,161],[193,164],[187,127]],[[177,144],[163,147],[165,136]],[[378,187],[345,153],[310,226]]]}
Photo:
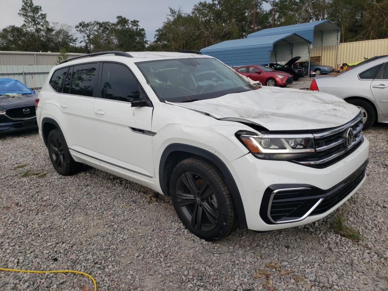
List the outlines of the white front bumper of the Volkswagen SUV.
{"label": "white front bumper of the Volkswagen SUV", "polygon": [[[282,184],[281,188],[283,189],[295,188],[295,185],[308,185],[322,191],[317,191],[318,193],[315,194],[325,194],[326,197],[326,193],[340,185],[362,167],[368,158],[368,151],[369,142],[365,139],[352,154],[326,168],[311,168],[288,161],[262,160],[255,158],[252,154],[246,154],[230,162],[228,166],[240,191],[248,228],[265,231],[294,227],[313,222],[333,212],[357,191],[365,179],[364,175],[357,180],[358,184],[353,185],[353,190],[345,193],[345,197],[338,199],[338,203],[330,204],[329,208],[322,208],[320,211],[316,211],[316,214],[309,213],[303,220],[295,222],[274,223],[266,219],[268,217],[268,208],[266,208],[268,200],[266,199],[268,198],[265,193],[266,191],[268,193],[267,189],[273,185]],[[262,215],[260,215],[262,204],[265,211],[263,214],[262,210]]]}

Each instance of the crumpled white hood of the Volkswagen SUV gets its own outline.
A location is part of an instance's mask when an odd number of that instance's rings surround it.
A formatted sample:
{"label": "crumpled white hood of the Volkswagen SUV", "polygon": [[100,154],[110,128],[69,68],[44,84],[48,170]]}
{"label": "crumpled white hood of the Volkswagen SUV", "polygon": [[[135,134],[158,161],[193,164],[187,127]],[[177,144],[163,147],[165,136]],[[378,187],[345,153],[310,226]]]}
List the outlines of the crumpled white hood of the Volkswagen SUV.
{"label": "crumpled white hood of the Volkswagen SUV", "polygon": [[331,94],[277,87],[170,104],[220,120],[253,123],[271,131],[332,128],[347,123],[360,112]]}

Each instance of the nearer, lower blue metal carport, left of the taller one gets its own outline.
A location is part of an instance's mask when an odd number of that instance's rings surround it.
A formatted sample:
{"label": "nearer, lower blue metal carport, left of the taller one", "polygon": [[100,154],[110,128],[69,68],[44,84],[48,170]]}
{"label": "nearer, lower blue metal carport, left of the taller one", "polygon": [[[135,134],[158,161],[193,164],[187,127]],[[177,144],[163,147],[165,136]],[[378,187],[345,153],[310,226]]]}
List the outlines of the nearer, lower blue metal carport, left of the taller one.
{"label": "nearer, lower blue metal carport, left of the taller one", "polygon": [[229,66],[243,66],[289,60],[296,55],[310,57],[310,45],[309,40],[296,33],[279,33],[226,40],[201,49],[201,53]]}

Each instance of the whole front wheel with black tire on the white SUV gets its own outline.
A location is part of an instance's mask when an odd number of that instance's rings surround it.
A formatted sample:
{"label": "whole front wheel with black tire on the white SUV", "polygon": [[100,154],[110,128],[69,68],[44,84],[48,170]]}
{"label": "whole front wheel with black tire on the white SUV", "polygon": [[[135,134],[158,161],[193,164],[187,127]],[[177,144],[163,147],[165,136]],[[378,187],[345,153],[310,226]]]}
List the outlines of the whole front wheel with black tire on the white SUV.
{"label": "whole front wheel with black tire on the white SUV", "polygon": [[237,226],[232,196],[217,170],[204,160],[180,162],[170,179],[178,217],[193,234],[207,241],[229,236]]}

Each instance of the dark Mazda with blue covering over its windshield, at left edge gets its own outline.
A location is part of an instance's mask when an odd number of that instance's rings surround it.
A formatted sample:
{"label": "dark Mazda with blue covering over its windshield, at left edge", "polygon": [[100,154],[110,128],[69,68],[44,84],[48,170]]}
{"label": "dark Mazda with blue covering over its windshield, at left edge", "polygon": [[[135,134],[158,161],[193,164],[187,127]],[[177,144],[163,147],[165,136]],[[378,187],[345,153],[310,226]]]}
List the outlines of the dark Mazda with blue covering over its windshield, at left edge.
{"label": "dark Mazda with blue covering over its windshield, at left edge", "polygon": [[0,78],[0,134],[36,129],[36,93],[21,81]]}

